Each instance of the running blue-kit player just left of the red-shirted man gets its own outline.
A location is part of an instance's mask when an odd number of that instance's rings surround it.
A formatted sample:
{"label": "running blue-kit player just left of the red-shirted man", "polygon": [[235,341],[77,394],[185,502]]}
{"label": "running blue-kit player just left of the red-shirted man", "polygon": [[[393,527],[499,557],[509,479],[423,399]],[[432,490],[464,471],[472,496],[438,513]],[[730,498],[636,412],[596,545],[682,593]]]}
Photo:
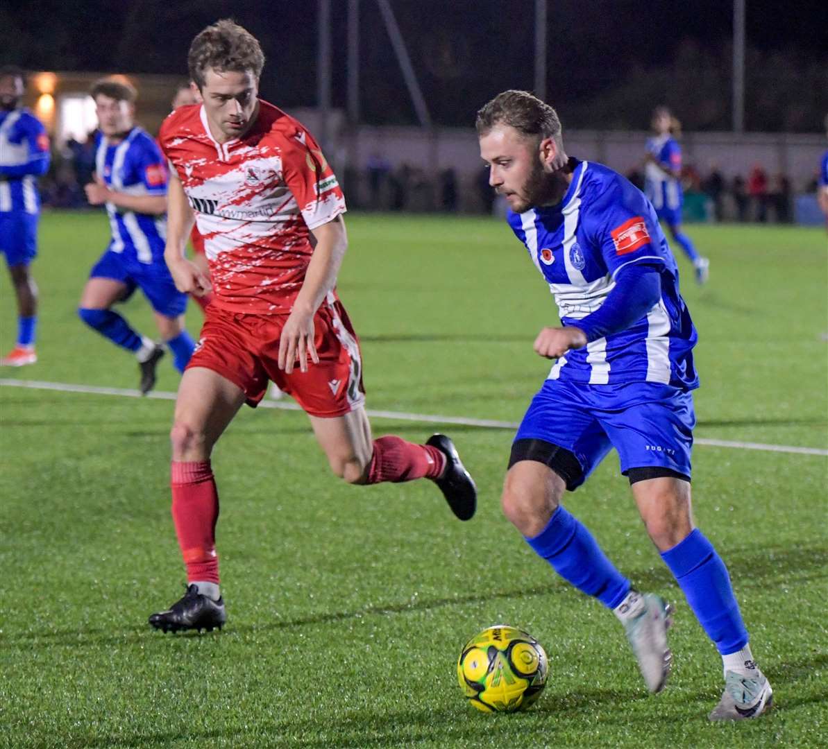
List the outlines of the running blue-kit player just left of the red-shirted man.
{"label": "running blue-kit player just left of the red-shirted man", "polygon": [[141,288],[179,372],[195,348],[184,328],[187,295],[176,289],[164,262],[166,165],[153,138],[135,125],[132,86],[103,79],[94,84],[91,94],[100,132],[95,181],[86,185],[86,197],[90,204],[106,205],[112,240],[89,274],[78,314],[84,323],[135,354],[141,370],[139,387],[146,394],[155,385],[156,364],[164,348],[137,334],[114,312],[116,302]]}

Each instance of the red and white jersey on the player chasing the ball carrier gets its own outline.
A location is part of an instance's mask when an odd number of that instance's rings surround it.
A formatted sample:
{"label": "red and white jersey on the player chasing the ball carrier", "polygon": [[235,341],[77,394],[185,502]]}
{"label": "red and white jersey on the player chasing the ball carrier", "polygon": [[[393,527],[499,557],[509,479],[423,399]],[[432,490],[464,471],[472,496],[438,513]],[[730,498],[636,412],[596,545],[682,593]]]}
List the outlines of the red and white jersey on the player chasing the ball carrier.
{"label": "red and white jersey on the player chasing the ball carrier", "polygon": [[287,314],[313,254],[310,229],[345,211],[345,199],[305,127],[259,100],[242,138],[217,142],[200,104],[161,125],[161,150],[181,180],[205,240],[213,304]]}

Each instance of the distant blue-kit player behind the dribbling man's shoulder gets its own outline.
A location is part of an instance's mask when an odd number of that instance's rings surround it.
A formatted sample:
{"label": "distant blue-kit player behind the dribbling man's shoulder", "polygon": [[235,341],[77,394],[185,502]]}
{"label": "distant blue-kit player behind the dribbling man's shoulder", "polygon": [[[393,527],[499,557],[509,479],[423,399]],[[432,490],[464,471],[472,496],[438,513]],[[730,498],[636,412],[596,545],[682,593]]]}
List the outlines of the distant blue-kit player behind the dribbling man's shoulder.
{"label": "distant blue-kit player behind the dribbling man's shoulder", "polygon": [[656,214],[670,229],[672,238],[681,245],[696,271],[696,281],[707,281],[710,261],[701,257],[690,238],[681,232],[681,146],[676,142],[681,126],[667,107],[652,113],[652,132],[647,141],[647,163],[644,169],[645,190]]}

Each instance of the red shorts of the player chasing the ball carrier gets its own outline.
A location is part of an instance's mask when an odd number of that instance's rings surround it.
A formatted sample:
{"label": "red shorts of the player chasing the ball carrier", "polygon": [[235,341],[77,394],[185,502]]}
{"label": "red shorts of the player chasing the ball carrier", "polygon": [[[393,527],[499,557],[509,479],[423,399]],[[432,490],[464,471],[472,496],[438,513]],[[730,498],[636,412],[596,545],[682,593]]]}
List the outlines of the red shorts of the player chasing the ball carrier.
{"label": "red shorts of the player chasing the ball carrier", "polygon": [[316,353],[308,371],[291,374],[278,367],[284,314],[239,314],[210,305],[195,353],[187,364],[204,367],[238,385],[248,406],[258,406],[272,380],[307,414],[331,418],[362,406],[365,389],[359,340],[342,303],[323,302],[314,317]]}

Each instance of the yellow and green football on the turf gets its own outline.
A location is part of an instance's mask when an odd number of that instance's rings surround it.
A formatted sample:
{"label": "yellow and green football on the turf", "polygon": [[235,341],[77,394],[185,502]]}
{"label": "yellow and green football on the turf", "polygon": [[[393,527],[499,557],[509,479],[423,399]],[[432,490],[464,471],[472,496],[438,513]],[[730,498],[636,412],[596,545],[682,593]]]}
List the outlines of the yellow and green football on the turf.
{"label": "yellow and green football on the turf", "polygon": [[529,707],[546,686],[546,651],[528,632],[496,624],[469,640],[457,659],[465,698],[484,713]]}

